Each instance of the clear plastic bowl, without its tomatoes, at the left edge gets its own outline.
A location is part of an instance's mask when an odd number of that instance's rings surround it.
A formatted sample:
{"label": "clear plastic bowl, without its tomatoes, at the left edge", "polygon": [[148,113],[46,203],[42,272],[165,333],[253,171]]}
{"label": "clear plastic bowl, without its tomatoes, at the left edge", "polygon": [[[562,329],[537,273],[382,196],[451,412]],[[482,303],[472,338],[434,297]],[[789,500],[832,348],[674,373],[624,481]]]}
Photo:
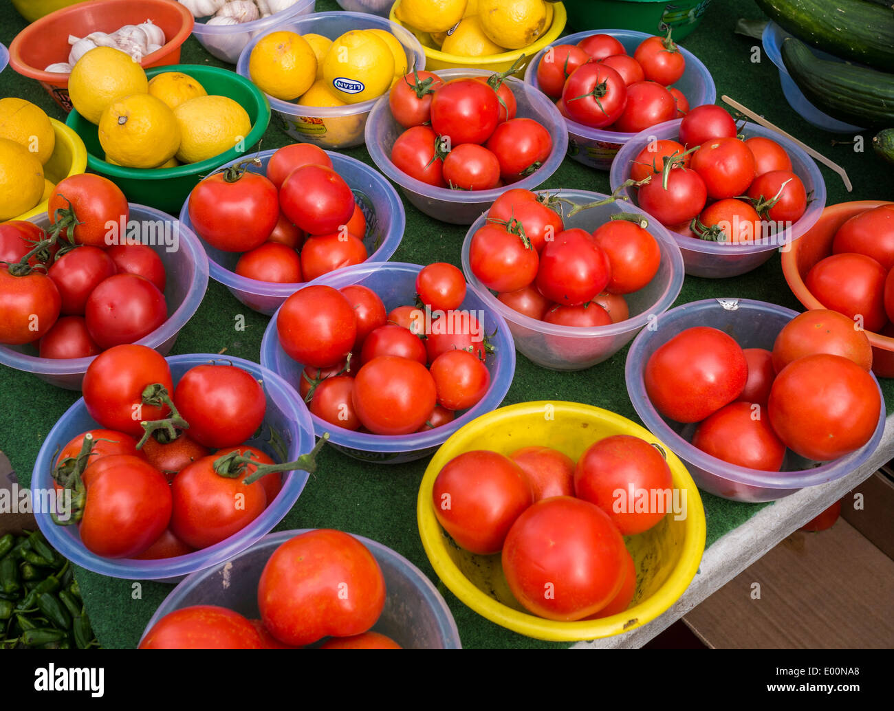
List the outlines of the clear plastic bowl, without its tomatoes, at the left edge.
{"label": "clear plastic bowl, without its tomatoes, at the left edge", "polygon": [[[164,264],[167,273],[167,282],[164,285],[164,300],[167,302],[167,320],[156,328],[151,334],[139,339],[136,343],[154,348],[162,355],[167,355],[177,340],[177,334],[186,326],[196,313],[198,305],[205,298],[205,290],[208,285],[208,259],[205,250],[202,249],[198,237],[192,230],[177,221],[176,218],[167,215],[154,207],[145,205],[131,205],[131,220],[144,223],[144,234],[149,240],[151,234],[147,233],[148,224],[154,227],[155,234],[166,234],[170,242],[176,245],[172,251],[168,251],[165,243],[156,237],[161,243],[149,245],[156,250]],[[45,213],[33,216],[30,222],[48,227],[49,217]],[[170,228],[161,225],[170,224]],[[174,230],[176,229],[176,232]],[[167,232],[164,232],[167,230]],[[173,237],[176,236],[176,240]],[[53,359],[39,358],[38,348],[34,343],[24,345],[0,346],[0,363],[17,370],[25,370],[33,373],[41,380],[46,380],[51,385],[63,387],[66,390],[80,390],[80,382],[87,372],[87,367],[96,356],[89,358]]]}

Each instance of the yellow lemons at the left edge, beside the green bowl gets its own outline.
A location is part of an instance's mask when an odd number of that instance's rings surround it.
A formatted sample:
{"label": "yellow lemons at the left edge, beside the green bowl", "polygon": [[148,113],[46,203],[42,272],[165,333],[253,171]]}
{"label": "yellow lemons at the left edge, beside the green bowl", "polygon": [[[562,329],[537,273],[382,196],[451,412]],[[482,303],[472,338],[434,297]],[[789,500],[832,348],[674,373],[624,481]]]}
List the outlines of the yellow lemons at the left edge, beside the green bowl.
{"label": "yellow lemons at the left edge, beside the green bowl", "polygon": [[43,202],[55,188],[44,177],[55,131],[41,108],[23,98],[0,98],[0,222]]}

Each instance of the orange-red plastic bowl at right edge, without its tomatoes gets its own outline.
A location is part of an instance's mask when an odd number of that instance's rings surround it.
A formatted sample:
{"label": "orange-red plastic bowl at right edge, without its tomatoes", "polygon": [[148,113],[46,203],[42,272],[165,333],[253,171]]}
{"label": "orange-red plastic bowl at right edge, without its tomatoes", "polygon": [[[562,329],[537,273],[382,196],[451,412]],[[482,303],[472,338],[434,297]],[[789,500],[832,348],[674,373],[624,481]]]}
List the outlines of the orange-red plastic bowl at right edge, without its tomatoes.
{"label": "orange-red plastic bowl at right edge, without its tomatoes", "polygon": [[[821,259],[832,253],[832,241],[839,227],[851,217],[880,205],[894,205],[884,200],[856,200],[831,205],[813,227],[801,239],[791,243],[791,250],[782,252],[782,273],[789,283],[789,289],[807,309],[825,309],[820,301],[807,290],[804,279]],[[894,377],[894,338],[866,331],[873,346],[873,373],[877,377]]]}

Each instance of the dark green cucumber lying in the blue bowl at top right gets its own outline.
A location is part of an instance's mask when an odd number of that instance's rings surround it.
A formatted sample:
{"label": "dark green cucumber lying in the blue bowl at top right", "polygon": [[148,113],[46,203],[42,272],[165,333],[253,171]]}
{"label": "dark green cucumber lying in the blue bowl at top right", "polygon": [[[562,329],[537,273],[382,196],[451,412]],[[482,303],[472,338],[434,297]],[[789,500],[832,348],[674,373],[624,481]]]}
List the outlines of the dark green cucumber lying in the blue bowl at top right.
{"label": "dark green cucumber lying in the blue bowl at top right", "polygon": [[787,37],[782,62],[807,100],[839,121],[865,128],[894,124],[894,75],[854,64],[827,62]]}

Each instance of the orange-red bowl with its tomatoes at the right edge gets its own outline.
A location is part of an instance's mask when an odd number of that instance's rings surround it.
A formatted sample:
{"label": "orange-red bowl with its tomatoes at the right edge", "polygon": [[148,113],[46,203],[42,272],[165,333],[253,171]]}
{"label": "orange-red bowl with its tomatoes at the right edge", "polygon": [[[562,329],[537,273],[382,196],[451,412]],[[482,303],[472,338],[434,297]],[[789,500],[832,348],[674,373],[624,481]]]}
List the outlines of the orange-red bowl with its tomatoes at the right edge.
{"label": "orange-red bowl with its tomatoes at the right edge", "polygon": [[[847,226],[845,226],[847,224]],[[789,288],[807,309],[835,309],[853,318],[864,317],[864,331],[873,345],[873,373],[894,377],[894,203],[857,200],[830,205],[804,236],[782,255],[782,273]],[[864,258],[854,257],[854,254]],[[828,279],[810,277],[814,267],[832,254],[848,254],[844,271],[831,272],[837,293]],[[841,258],[837,258],[841,259]],[[873,264],[873,260],[881,268]],[[835,260],[827,262],[834,270]],[[819,275],[819,273],[814,274]],[[815,292],[807,282],[822,292]],[[871,322],[866,316],[872,314]],[[887,318],[886,318],[887,317]]]}

